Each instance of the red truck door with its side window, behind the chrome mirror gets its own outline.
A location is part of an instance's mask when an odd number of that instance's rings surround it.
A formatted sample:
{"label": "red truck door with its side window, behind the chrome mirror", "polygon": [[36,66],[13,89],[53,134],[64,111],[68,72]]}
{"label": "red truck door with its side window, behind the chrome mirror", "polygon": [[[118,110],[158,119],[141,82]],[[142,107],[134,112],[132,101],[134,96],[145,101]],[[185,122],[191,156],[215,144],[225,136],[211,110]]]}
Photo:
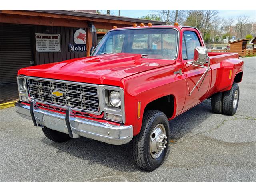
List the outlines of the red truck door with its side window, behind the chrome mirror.
{"label": "red truck door with its side window, behind the chrome mirror", "polygon": [[182,32],[182,63],[184,66],[184,75],[187,83],[186,99],[183,107],[183,111],[192,108],[196,104],[206,99],[209,83],[210,74],[205,74],[204,79],[196,86],[195,90],[191,93],[198,80],[202,77],[205,72],[205,68],[200,68],[188,64],[188,61],[193,61],[194,48],[198,46],[204,46],[203,40],[196,29],[186,28]]}

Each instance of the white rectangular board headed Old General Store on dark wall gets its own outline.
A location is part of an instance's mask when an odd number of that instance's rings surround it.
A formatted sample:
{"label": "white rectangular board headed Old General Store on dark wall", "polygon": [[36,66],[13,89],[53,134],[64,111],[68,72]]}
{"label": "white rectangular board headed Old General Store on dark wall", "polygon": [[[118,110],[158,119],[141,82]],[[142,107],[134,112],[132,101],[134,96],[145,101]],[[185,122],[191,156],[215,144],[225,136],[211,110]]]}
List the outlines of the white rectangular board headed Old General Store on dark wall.
{"label": "white rectangular board headed Old General Store on dark wall", "polygon": [[60,52],[60,34],[36,33],[36,52]]}

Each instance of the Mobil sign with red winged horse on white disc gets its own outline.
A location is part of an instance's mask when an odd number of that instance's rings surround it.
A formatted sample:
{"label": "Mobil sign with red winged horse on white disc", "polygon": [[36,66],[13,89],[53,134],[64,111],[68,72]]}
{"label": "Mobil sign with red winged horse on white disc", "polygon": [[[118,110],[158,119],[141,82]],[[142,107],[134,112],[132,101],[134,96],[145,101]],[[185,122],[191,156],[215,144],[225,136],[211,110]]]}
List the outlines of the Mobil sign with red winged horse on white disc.
{"label": "Mobil sign with red winged horse on white disc", "polygon": [[86,52],[86,32],[78,29],[73,35],[74,44],[68,44],[69,52]]}

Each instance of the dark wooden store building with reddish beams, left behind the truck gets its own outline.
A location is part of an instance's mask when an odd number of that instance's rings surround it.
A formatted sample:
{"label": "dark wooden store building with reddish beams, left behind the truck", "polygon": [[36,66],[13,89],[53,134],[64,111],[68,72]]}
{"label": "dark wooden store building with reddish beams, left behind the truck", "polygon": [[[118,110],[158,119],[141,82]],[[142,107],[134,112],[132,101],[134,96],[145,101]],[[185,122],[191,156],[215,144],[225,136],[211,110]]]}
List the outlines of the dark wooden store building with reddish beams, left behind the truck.
{"label": "dark wooden store building with reddish beams, left behind the truck", "polygon": [[[0,85],[16,83],[20,68],[89,56],[92,45],[104,36],[95,29],[165,24],[88,11],[0,10]],[[76,43],[78,38],[82,44]]]}

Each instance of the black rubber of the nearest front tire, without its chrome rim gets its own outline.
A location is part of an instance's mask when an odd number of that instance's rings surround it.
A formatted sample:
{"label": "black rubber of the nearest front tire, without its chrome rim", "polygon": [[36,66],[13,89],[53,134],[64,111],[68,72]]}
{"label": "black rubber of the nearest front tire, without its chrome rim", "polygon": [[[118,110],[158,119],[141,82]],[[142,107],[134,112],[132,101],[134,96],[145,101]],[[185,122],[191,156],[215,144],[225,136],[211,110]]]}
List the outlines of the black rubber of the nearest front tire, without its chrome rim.
{"label": "black rubber of the nearest front tire, without its chrome rim", "polygon": [[[152,158],[150,154],[150,137],[156,125],[162,124],[167,136],[166,148],[158,158]],[[140,133],[132,140],[132,157],[136,166],[146,171],[153,171],[160,166],[168,150],[169,123],[166,115],[158,110],[147,110],[144,112]]]}

